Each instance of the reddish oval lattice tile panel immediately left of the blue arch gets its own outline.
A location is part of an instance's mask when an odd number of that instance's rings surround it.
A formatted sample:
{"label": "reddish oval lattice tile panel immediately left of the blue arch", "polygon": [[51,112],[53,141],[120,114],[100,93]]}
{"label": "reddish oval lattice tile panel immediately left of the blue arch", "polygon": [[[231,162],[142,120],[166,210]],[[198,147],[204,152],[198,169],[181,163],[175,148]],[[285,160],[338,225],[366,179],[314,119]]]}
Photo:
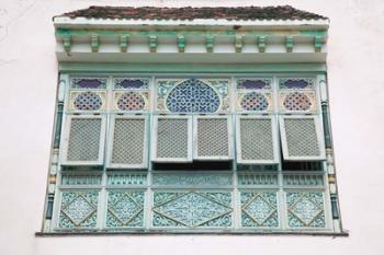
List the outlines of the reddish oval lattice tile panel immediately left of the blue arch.
{"label": "reddish oval lattice tile panel immediately left of the blue arch", "polygon": [[115,93],[116,108],[120,111],[143,111],[146,108],[148,93]]}

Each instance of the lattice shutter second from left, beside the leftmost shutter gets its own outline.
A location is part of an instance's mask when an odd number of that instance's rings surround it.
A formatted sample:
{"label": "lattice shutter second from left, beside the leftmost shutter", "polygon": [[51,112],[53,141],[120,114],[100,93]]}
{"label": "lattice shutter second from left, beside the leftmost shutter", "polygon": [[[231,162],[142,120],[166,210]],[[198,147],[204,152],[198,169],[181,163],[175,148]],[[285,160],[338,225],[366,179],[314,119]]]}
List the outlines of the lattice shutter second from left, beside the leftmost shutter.
{"label": "lattice shutter second from left, beside the leftmost shutter", "polygon": [[114,119],[111,166],[139,167],[145,165],[146,119]]}

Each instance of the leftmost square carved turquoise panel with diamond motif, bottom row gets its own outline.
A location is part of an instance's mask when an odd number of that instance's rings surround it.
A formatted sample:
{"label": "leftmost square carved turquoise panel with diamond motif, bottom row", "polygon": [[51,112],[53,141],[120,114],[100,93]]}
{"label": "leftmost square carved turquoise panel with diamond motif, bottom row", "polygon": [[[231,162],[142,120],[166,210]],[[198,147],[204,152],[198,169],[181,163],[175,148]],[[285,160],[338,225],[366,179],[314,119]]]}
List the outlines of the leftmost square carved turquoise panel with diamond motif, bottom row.
{"label": "leftmost square carved turquoise panel with diamond motif, bottom row", "polygon": [[61,208],[58,227],[95,228],[99,193],[65,192],[61,194]]}

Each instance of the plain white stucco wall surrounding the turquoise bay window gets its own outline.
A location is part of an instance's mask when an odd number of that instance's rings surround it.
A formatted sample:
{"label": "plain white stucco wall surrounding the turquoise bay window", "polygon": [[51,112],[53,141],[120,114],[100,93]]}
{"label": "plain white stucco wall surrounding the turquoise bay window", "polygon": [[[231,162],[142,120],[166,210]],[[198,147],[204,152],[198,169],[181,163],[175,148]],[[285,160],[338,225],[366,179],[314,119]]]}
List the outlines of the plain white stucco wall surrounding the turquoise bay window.
{"label": "plain white stucco wall surrounding the turquoise bay window", "polygon": [[349,237],[35,237],[41,229],[57,63],[52,16],[91,4],[140,1],[1,0],[0,254],[383,254],[384,2],[382,0],[147,0],[145,5],[292,4],[331,20],[330,114],[343,225]]}

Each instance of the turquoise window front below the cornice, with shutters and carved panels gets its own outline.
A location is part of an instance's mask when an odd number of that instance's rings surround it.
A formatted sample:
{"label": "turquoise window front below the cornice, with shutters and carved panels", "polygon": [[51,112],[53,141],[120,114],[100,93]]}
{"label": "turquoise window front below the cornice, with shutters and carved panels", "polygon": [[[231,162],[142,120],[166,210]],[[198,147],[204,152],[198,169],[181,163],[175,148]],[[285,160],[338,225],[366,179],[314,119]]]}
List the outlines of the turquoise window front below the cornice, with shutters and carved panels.
{"label": "turquoise window front below the cornice, with shutters and carved panels", "polygon": [[84,77],[63,76],[52,231],[330,228],[320,77]]}

